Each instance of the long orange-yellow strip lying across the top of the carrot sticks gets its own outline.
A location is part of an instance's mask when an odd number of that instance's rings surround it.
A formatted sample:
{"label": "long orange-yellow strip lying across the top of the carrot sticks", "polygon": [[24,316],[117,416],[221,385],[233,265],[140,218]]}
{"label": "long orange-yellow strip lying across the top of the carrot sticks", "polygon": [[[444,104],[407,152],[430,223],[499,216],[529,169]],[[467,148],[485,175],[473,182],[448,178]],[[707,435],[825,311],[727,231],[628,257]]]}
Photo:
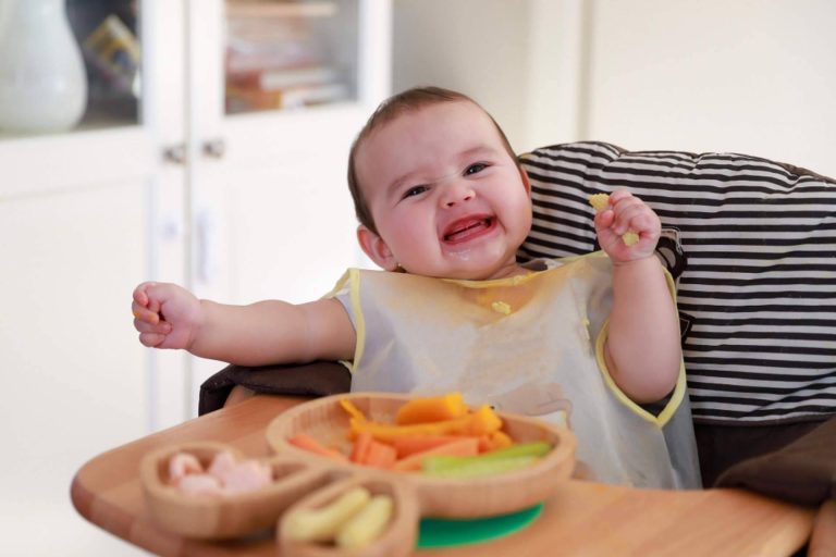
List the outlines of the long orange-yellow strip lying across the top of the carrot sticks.
{"label": "long orange-yellow strip lying across the top of the carrot sticks", "polygon": [[493,409],[484,405],[472,413],[431,423],[414,423],[409,425],[391,425],[370,421],[361,421],[356,418],[351,420],[349,436],[355,438],[367,431],[372,437],[384,443],[401,435],[490,435],[502,428],[502,419]]}

